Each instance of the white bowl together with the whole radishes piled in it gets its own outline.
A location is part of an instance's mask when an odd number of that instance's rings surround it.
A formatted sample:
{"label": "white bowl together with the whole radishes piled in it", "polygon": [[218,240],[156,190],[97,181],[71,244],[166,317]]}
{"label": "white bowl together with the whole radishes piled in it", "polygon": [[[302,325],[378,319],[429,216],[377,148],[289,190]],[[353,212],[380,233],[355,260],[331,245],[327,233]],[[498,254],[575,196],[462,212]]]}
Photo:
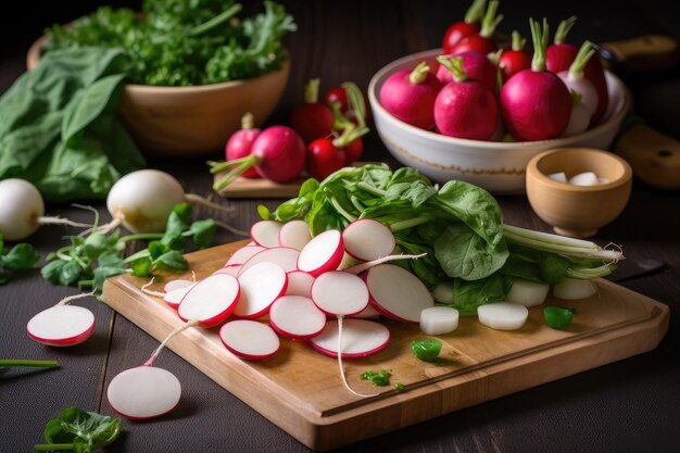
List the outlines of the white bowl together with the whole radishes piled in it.
{"label": "white bowl together with the whole radishes piled in it", "polygon": [[[590,76],[594,50],[589,42],[580,50],[563,43],[570,26],[565,24],[549,47],[545,21],[530,21],[534,54],[505,64],[466,43],[461,52],[433,49],[382,67],[370,80],[368,99],[388,150],[433,180],[461,179],[501,194],[525,192],[527,163],[541,151],[607,149],[630,95],[605,70],[595,84],[583,76],[584,66]],[[515,36],[501,62],[520,52]],[[514,63],[519,67],[505,74]]]}

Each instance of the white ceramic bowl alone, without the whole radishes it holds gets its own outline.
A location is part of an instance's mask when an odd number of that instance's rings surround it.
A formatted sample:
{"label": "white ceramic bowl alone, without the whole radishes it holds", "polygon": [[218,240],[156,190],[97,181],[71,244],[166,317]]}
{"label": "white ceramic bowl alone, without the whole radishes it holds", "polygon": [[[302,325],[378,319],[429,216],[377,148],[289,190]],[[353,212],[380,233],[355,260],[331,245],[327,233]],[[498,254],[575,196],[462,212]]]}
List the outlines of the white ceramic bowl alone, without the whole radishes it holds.
{"label": "white ceramic bowl alone, without the whole radishes it holds", "polygon": [[420,61],[437,67],[441,49],[404,56],[382,67],[370,79],[368,101],[378,135],[392,155],[429,178],[445,183],[459,179],[483,187],[494,194],[524,193],[525,168],[531,158],[553,148],[609,148],[630,109],[630,95],[624,83],[606,72],[609,105],[602,122],[572,137],[541,141],[500,142],[468,140],[411,126],[380,105],[383,81],[394,72],[411,70]]}

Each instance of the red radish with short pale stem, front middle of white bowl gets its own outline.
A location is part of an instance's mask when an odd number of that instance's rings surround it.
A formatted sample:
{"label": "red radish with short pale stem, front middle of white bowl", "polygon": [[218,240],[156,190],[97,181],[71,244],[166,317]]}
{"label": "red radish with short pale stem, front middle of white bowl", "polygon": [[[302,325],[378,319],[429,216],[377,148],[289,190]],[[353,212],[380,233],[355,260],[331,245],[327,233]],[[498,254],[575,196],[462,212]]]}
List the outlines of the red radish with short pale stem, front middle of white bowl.
{"label": "red radish with short pale stem, front middle of white bowl", "polygon": [[450,67],[454,81],[441,89],[435,101],[435,122],[443,135],[488,140],[496,127],[498,106],[493,92],[482,83],[470,80],[457,58],[438,58]]}

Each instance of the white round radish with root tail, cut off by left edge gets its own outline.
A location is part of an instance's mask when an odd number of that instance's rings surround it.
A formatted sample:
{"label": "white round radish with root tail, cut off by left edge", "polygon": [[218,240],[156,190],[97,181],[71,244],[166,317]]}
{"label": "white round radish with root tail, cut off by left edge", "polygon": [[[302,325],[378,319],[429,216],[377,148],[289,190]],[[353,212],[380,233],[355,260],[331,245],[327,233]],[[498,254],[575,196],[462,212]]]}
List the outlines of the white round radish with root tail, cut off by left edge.
{"label": "white round radish with root tail, cut off by left edge", "polygon": [[0,236],[9,241],[25,239],[41,225],[67,225],[90,227],[91,225],[67,218],[46,216],[42,196],[33,184],[24,179],[0,180]]}

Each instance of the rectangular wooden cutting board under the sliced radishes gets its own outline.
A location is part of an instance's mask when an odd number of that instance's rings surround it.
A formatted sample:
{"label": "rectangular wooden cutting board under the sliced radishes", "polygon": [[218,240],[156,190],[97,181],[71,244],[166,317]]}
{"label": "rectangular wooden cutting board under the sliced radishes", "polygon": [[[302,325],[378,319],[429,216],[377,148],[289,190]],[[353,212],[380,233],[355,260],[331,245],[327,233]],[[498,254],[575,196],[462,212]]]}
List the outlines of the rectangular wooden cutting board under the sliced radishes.
{"label": "rectangular wooden cutting board under the sliced radishes", "polygon": [[[245,243],[188,254],[190,269],[203,278]],[[188,272],[168,278],[191,277]],[[162,341],[181,320],[162,300],[139,290],[146,282],[129,275],[110,278],[103,297]],[[159,280],[150,289],[162,286]],[[541,306],[530,309],[528,322],[515,331],[462,318],[454,332],[439,337],[439,366],[411,353],[411,340],[430,338],[417,326],[381,320],[392,334],[388,348],[372,357],[344,361],[351,386],[362,393],[379,392],[375,398],[351,394],[342,386],[337,361],[302,341],[281,339],[278,354],[261,362],[234,356],[217,329],[187,329],[168,347],[300,442],[325,451],[654,349],[668,329],[668,307],[606,280],[597,286],[599,293],[585,300],[546,302],[576,309],[564,331],[545,325]],[[360,375],[367,369],[390,370],[391,383],[401,382],[404,390],[362,381]]]}

